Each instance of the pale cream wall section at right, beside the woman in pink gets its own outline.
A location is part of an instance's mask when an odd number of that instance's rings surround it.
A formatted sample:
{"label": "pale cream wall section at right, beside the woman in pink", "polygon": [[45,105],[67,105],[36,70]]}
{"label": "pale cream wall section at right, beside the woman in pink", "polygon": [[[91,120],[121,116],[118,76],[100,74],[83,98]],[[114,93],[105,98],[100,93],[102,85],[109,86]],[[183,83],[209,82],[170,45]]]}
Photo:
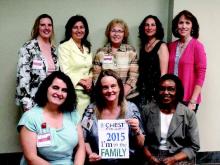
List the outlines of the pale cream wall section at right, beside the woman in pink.
{"label": "pale cream wall section at right, beside the woman in pink", "polygon": [[199,39],[207,52],[208,69],[202,90],[203,101],[197,113],[202,151],[220,151],[219,6],[219,0],[174,0],[174,15],[187,9],[197,17]]}

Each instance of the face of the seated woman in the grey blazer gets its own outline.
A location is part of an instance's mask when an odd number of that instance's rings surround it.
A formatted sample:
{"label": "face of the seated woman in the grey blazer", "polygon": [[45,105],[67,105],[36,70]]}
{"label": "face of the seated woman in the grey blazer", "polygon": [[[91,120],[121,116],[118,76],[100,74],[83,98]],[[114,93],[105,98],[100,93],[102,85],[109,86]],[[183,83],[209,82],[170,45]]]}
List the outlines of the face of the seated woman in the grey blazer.
{"label": "face of the seated woman in the grey blazer", "polygon": [[165,80],[159,88],[160,101],[162,104],[176,102],[176,84],[173,80]]}

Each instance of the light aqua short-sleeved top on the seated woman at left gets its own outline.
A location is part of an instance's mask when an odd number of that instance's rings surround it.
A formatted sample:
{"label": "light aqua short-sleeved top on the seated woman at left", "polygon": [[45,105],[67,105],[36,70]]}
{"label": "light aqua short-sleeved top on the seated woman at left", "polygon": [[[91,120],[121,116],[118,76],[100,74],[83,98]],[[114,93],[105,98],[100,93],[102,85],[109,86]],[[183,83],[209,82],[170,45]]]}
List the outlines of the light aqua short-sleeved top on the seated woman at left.
{"label": "light aqua short-sleeved top on the seated woman at left", "polygon": [[[21,117],[18,123],[18,131],[21,126],[35,132],[37,135],[42,132],[41,125],[45,123],[43,109],[35,106]],[[76,111],[63,113],[62,128],[51,128],[47,125],[47,131],[51,134],[51,146],[37,147],[38,154],[52,165],[73,165],[73,149],[78,144],[77,124],[80,122],[79,114]],[[22,163],[23,162],[23,163]],[[25,165],[23,159],[21,165]]]}

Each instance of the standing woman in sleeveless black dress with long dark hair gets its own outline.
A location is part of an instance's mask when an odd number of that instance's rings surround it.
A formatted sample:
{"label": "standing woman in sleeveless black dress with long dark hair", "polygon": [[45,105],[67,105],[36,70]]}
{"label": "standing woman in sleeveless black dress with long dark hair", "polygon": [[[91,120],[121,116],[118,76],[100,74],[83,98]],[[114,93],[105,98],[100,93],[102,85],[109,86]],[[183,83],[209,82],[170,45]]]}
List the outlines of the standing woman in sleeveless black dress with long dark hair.
{"label": "standing woman in sleeveless black dress with long dark hair", "polygon": [[163,37],[160,20],[153,15],[145,17],[139,26],[141,48],[137,86],[140,106],[154,99],[156,85],[168,70],[169,52]]}

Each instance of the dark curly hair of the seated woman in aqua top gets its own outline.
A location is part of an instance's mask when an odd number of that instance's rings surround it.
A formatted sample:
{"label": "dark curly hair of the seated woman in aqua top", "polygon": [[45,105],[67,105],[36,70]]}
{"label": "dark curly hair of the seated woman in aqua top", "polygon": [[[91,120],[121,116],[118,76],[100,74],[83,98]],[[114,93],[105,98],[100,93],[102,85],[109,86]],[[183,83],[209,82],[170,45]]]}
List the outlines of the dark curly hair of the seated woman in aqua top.
{"label": "dark curly hair of the seated woman in aqua top", "polygon": [[59,110],[61,112],[72,112],[76,108],[77,104],[75,89],[73,87],[71,79],[61,71],[55,71],[51,73],[42,81],[35,95],[34,101],[40,107],[44,107],[47,104],[48,88],[53,83],[55,78],[63,80],[63,82],[66,83],[67,86],[67,98],[65,102],[60,106]]}

